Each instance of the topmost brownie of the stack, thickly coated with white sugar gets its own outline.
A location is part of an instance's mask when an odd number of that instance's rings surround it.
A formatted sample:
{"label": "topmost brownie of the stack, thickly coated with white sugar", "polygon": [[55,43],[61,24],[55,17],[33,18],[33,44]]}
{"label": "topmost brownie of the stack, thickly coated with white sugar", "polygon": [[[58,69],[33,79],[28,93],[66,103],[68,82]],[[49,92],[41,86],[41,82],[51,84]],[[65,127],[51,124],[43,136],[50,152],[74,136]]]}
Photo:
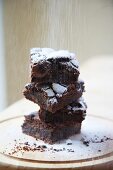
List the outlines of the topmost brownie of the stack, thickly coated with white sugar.
{"label": "topmost brownie of the stack, thickly coated with white sugar", "polygon": [[63,83],[77,81],[79,65],[74,53],[50,48],[31,49],[31,82]]}

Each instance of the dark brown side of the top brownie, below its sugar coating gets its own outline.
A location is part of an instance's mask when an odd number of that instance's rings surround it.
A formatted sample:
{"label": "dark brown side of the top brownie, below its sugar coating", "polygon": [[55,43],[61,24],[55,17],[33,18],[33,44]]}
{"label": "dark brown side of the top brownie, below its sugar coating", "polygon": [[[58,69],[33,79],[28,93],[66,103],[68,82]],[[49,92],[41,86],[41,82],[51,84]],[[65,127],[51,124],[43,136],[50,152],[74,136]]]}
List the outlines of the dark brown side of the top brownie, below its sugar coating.
{"label": "dark brown side of the top brownie, below its sugar coating", "polygon": [[79,70],[71,62],[40,61],[31,65],[31,82],[63,83],[77,81]]}

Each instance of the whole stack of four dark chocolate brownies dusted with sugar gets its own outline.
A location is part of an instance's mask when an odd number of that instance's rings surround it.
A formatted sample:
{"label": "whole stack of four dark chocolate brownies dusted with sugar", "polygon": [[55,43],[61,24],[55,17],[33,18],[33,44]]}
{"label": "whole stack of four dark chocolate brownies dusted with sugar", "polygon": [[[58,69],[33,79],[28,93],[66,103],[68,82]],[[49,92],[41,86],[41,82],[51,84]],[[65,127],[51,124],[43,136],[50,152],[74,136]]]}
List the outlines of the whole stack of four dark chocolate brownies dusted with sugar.
{"label": "whole stack of four dark chocolate brownies dusted with sugar", "polygon": [[31,82],[24,96],[40,110],[25,116],[23,133],[54,143],[80,132],[86,116],[82,98],[84,82],[74,53],[51,48],[33,48],[30,54]]}

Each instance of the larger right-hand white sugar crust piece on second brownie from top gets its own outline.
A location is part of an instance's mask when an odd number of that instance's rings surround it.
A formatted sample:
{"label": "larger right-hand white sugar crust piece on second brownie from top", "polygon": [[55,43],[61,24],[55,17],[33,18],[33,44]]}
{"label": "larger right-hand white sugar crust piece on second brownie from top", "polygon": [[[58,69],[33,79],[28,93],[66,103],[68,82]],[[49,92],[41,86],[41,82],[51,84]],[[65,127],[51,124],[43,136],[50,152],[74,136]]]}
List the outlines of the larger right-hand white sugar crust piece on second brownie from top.
{"label": "larger right-hand white sugar crust piece on second brownie from top", "polygon": [[61,85],[58,84],[58,83],[53,83],[53,84],[52,84],[52,87],[53,87],[53,90],[54,90],[56,93],[59,93],[59,94],[63,94],[64,92],[67,91],[67,88],[66,88],[66,87],[61,86]]}

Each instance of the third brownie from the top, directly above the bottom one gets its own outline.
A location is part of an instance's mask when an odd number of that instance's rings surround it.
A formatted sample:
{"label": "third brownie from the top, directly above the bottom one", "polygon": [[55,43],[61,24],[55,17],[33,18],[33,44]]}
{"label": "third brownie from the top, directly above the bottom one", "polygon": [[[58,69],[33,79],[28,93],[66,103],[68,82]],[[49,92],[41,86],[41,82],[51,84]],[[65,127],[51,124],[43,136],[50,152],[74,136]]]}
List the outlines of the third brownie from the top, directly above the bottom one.
{"label": "third brownie from the top, directly above the bottom one", "polygon": [[85,102],[80,98],[55,113],[40,109],[36,115],[39,115],[39,118],[45,123],[63,123],[72,120],[81,123],[85,119],[86,108]]}

